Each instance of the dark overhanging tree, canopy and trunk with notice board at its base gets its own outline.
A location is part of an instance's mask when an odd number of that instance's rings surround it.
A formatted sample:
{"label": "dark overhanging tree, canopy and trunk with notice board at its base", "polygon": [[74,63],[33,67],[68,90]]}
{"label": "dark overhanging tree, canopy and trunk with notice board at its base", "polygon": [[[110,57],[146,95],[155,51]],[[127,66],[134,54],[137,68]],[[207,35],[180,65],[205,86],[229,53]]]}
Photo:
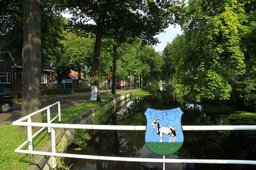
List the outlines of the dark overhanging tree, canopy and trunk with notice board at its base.
{"label": "dark overhanging tree, canopy and trunk with notice board at its base", "polygon": [[[177,16],[178,10],[175,5],[180,7],[180,1],[144,1],[144,0],[94,0],[94,1],[73,1],[68,0],[68,7],[73,12],[73,24],[79,32],[93,32],[96,35],[94,47],[94,85],[99,85],[99,61],[101,39],[103,35],[118,30],[135,30],[130,31],[130,35],[140,35],[144,40],[155,40],[154,35],[162,32],[166,28],[174,16]],[[176,10],[176,11],[175,11]],[[176,13],[174,13],[174,11]],[[86,23],[93,19],[96,25]],[[136,23],[136,24],[135,24]],[[126,27],[124,27],[126,25]],[[126,29],[129,28],[129,29]],[[114,30],[111,32],[111,30]],[[117,34],[120,37],[126,37]],[[133,36],[132,36],[133,37]],[[121,40],[119,38],[114,38]],[[116,44],[113,46],[113,53],[116,54]],[[116,61],[113,58],[114,62]],[[97,101],[100,101],[98,91]]]}

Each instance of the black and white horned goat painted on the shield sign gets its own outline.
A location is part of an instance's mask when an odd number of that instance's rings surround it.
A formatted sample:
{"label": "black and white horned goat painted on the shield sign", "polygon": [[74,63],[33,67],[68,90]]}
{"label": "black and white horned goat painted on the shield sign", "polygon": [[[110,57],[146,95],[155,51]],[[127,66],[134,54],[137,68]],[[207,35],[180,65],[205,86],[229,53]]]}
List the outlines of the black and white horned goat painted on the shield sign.
{"label": "black and white horned goat painted on the shield sign", "polygon": [[[158,135],[160,136],[160,142],[162,142],[163,134],[171,136],[170,140],[168,141],[169,143],[174,142],[175,138],[176,138],[176,129],[177,128],[175,126],[174,127],[172,127],[172,126],[162,127],[158,120],[162,121],[162,119],[156,118],[154,121],[152,121],[151,125],[154,125],[154,129],[155,129],[155,125],[157,125],[156,130],[157,130]],[[173,140],[171,141],[172,138],[173,138]]]}

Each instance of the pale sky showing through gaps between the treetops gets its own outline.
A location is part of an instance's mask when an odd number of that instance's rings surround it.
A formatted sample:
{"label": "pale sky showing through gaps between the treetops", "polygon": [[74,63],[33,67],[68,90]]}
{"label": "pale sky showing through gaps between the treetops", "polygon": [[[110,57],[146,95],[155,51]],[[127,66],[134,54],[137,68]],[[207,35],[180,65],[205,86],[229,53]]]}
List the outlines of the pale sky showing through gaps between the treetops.
{"label": "pale sky showing through gaps between the treetops", "polygon": [[[70,18],[71,15],[67,13],[62,13],[62,16],[65,18]],[[162,52],[164,50],[164,47],[166,46],[167,42],[172,42],[172,40],[176,37],[176,35],[182,34],[181,27],[179,25],[169,25],[168,28],[165,29],[164,33],[160,33],[156,35],[155,37],[159,39],[160,43],[154,46],[155,51]]]}

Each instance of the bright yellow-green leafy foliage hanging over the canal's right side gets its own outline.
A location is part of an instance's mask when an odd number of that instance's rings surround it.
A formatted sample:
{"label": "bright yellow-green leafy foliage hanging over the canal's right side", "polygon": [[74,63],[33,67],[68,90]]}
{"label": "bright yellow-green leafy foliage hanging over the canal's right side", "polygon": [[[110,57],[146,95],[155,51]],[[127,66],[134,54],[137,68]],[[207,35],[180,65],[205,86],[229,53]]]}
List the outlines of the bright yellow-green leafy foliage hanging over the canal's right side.
{"label": "bright yellow-green leafy foliage hanging over the canal's right side", "polygon": [[164,54],[170,58],[175,83],[190,89],[196,101],[229,99],[230,75],[245,73],[245,8],[233,0],[188,1],[184,33],[166,46]]}

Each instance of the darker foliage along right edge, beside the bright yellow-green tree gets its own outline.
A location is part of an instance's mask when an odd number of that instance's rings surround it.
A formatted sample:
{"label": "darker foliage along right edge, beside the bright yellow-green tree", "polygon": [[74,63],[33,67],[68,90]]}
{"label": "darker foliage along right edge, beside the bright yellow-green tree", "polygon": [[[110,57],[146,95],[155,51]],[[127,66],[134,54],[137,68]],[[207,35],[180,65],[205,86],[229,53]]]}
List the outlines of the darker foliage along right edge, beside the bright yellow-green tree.
{"label": "darker foliage along right edge, beside the bright yellow-green tree", "polygon": [[232,98],[236,104],[256,111],[256,24],[255,24],[255,9],[256,1],[244,1],[245,12],[247,17],[247,30],[243,34],[241,45],[245,51],[245,70],[246,72],[239,76],[239,80],[233,83]]}

